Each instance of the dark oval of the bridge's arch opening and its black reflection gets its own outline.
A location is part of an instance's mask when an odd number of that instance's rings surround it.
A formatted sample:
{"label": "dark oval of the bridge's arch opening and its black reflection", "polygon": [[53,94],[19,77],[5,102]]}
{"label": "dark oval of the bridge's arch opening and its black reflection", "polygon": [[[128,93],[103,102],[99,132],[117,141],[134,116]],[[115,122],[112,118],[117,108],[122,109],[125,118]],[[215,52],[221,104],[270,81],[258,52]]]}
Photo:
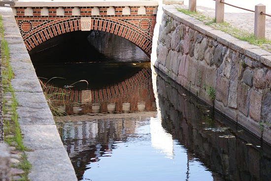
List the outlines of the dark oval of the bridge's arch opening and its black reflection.
{"label": "dark oval of the bridge's arch opening and its black reflection", "polygon": [[[122,82],[150,66],[148,56],[129,40],[103,31],[72,31],[29,52],[36,74],[63,88],[87,80],[88,89]],[[73,89],[85,89],[79,82]]]}

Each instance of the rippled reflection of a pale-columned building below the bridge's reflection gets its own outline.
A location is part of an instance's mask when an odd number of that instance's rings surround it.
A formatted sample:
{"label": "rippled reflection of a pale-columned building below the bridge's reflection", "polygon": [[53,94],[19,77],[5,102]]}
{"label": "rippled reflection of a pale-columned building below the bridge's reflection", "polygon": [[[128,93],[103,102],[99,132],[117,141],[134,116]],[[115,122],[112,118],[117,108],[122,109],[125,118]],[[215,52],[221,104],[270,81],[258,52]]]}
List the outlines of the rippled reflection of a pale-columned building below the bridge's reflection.
{"label": "rippled reflection of a pale-columned building below the bridge's reflection", "polygon": [[[76,124],[76,126],[69,126]],[[72,158],[77,177],[81,177],[90,162],[102,156],[111,156],[114,143],[125,142],[128,135],[135,134],[135,119],[114,119],[66,123],[62,129],[65,149]],[[76,160],[76,162],[74,161]]]}

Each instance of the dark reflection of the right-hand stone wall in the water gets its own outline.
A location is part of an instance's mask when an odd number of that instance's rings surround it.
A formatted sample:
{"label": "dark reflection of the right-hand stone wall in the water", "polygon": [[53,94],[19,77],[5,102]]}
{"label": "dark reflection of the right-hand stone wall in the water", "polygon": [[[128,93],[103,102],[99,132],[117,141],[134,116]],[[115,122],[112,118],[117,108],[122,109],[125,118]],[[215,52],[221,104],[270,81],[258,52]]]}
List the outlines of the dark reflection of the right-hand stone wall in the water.
{"label": "dark reflection of the right-hand stone wall in the water", "polygon": [[[241,128],[236,123],[213,113],[188,91],[160,76],[158,93],[163,127],[173,135],[173,139],[195,153],[188,155],[190,159],[199,158],[213,172],[213,177],[218,177],[217,180],[221,176],[233,181],[270,180],[270,146],[262,144],[246,131],[238,132],[237,129]],[[206,112],[208,110],[210,112]],[[234,134],[235,138],[220,138],[221,133],[205,130],[207,126],[230,127],[231,132],[223,134]],[[261,145],[261,148],[256,145]]]}

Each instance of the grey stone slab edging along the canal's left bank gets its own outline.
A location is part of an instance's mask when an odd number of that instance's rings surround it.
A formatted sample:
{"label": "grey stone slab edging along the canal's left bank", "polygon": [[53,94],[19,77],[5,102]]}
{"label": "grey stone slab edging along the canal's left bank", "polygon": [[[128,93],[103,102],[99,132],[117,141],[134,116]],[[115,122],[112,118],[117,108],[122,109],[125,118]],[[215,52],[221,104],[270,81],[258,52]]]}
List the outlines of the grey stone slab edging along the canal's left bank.
{"label": "grey stone slab edging along the canal's left bank", "polygon": [[0,7],[4,38],[10,52],[9,63],[15,74],[11,80],[17,113],[28,160],[31,181],[77,181],[52,113],[35,74],[30,56],[10,7]]}

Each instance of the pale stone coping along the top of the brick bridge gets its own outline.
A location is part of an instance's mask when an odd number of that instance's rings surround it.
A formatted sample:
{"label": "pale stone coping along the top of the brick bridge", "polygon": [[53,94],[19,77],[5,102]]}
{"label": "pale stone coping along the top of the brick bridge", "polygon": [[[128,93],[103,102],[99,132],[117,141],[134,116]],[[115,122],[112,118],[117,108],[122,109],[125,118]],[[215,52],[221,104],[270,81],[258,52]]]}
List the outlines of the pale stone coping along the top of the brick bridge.
{"label": "pale stone coping along the top of the brick bridge", "polygon": [[14,7],[158,6],[158,0],[44,0],[15,1]]}

